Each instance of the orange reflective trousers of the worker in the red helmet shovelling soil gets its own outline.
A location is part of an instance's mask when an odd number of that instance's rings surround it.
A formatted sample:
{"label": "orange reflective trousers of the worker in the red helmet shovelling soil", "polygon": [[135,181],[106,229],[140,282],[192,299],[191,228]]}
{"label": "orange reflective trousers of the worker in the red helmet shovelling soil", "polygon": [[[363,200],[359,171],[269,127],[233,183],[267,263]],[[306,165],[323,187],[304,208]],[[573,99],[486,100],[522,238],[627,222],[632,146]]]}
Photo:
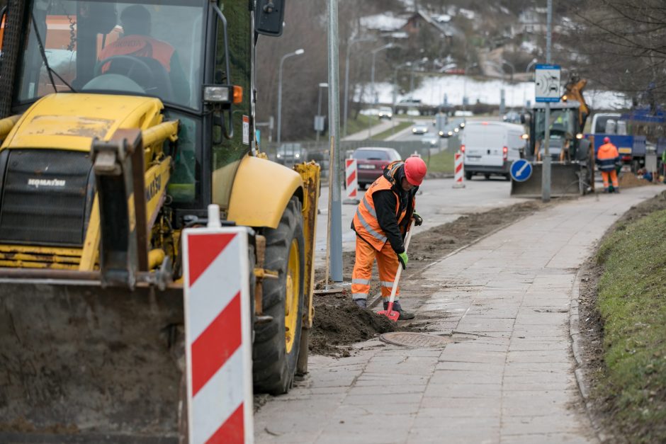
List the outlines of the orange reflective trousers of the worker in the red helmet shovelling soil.
{"label": "orange reflective trousers of the worker in the red helmet shovelling soil", "polygon": [[[354,272],[351,273],[351,299],[368,299],[375,258],[379,270],[382,297],[386,299],[390,297],[395,273],[400,265],[397,254],[391,248],[390,242],[386,242],[383,248],[377,251],[371,244],[356,236],[356,263],[354,263]],[[400,287],[395,292],[395,300],[400,299],[398,295],[400,295]]]}

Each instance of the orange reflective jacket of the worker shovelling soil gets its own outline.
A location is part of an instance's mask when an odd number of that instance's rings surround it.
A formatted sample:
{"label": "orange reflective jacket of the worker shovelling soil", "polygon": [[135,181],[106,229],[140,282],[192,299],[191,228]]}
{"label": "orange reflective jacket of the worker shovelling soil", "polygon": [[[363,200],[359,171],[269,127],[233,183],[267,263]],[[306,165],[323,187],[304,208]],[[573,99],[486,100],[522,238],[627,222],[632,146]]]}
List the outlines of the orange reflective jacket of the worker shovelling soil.
{"label": "orange reflective jacket of the worker shovelling soil", "polygon": [[[373,194],[380,190],[391,190],[395,195],[395,218],[397,220],[398,227],[400,227],[401,222],[407,216],[407,207],[405,207],[402,212],[400,211],[400,196],[395,193],[391,187],[397,180],[395,178],[395,173],[397,169],[405,164],[403,161],[394,161],[386,167],[388,170],[387,174],[382,174],[380,178],[373,182],[373,184],[368,188],[366,194],[363,196],[363,200],[359,203],[359,207],[356,208],[356,214],[354,215],[354,220],[351,224],[361,239],[367,241],[368,244],[371,244],[374,249],[380,251],[383,249],[384,244],[388,241],[385,232],[379,226],[379,221],[377,220],[377,213],[375,212],[375,203],[373,201]],[[390,179],[387,178],[390,177]],[[412,196],[412,208],[414,208],[414,197]]]}

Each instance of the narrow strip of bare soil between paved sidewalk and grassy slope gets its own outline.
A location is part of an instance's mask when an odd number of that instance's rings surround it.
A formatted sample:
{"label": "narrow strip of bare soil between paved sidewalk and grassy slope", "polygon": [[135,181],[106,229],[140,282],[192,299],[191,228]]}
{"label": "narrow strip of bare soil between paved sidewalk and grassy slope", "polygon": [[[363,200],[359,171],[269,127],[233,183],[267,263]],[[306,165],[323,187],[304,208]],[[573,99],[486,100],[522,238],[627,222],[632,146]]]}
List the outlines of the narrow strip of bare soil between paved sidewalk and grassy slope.
{"label": "narrow strip of bare soil between paved sidewalk and grassy slope", "polygon": [[[643,181],[643,179],[640,179],[640,181]],[[646,181],[640,183],[640,185],[645,184],[647,184]],[[620,182],[620,186],[623,186],[622,182]],[[665,193],[657,195],[650,200],[645,200],[645,202],[631,207],[604,236],[609,236],[619,224],[626,224],[640,217],[645,217],[653,211],[665,209]],[[604,370],[604,323],[597,310],[597,283],[599,282],[599,278],[601,278],[603,268],[597,265],[594,255],[592,255],[582,267],[580,273],[581,284],[578,298],[578,314],[580,317],[579,329],[582,335],[582,368],[587,380],[587,386],[591,389],[591,396],[588,399],[589,413],[592,415],[593,422],[602,431],[601,435],[604,443],[628,443],[630,440],[623,436],[622,431],[614,426],[611,403],[607,399],[603,399],[595,394],[595,387],[602,377]]]}

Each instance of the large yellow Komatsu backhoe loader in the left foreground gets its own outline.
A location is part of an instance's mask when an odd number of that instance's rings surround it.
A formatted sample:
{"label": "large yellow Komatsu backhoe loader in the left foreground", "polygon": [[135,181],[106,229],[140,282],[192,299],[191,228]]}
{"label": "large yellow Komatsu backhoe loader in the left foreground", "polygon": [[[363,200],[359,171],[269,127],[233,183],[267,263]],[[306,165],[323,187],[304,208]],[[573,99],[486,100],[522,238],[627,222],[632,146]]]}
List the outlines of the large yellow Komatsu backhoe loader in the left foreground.
{"label": "large yellow Komatsu backhoe loader in the left foreground", "polygon": [[283,14],[283,0],[1,11],[0,442],[183,442],[179,240],[211,203],[250,239],[255,389],[307,370],[319,166],[261,158],[254,137],[254,45]]}

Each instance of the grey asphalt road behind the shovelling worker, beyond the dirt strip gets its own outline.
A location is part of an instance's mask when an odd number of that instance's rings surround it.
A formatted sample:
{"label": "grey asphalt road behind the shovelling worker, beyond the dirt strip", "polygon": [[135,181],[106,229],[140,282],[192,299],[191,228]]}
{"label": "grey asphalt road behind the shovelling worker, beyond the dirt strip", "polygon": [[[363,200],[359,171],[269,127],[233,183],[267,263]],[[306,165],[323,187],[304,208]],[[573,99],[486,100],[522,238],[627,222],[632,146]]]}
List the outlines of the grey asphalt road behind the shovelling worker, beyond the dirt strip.
{"label": "grey asphalt road behind the shovelling worker, beyond the dirt strip", "polygon": [[[461,215],[484,212],[496,207],[504,207],[524,201],[521,198],[511,198],[511,183],[491,178],[486,181],[475,178],[466,181],[465,188],[453,188],[453,178],[426,179],[417,195],[417,212],[423,217],[424,224],[419,230],[430,229],[458,219]],[[359,190],[359,199],[364,192]],[[315,241],[315,266],[323,266],[326,257],[328,222],[328,196],[329,189],[322,186],[322,195],[319,200],[320,215],[317,220],[317,239]],[[344,196],[344,190],[342,191]],[[351,231],[351,219],[356,212],[356,205],[342,205],[342,250],[354,251],[356,234]]]}

